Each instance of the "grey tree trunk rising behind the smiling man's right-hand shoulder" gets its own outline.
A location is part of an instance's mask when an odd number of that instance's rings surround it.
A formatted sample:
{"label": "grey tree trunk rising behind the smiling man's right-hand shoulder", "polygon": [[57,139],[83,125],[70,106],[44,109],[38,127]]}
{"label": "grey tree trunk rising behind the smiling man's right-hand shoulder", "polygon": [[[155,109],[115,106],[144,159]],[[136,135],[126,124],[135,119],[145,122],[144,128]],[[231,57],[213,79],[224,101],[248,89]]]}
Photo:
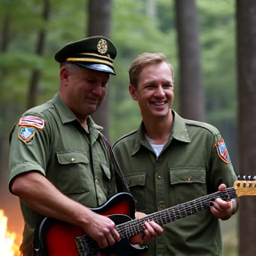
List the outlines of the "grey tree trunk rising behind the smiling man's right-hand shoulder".
{"label": "grey tree trunk rising behind the smiling man's right-hand shoulder", "polygon": [[204,89],[195,0],[176,0],[179,45],[180,115],[204,121]]}

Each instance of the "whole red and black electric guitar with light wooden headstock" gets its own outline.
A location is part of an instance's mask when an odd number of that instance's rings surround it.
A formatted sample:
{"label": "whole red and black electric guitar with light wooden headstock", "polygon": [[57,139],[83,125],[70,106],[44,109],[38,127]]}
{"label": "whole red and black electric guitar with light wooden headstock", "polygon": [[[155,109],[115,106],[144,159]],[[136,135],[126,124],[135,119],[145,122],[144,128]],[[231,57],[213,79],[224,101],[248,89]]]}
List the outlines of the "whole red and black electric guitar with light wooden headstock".
{"label": "whole red and black electric guitar with light wooden headstock", "polygon": [[159,212],[148,214],[142,219],[134,220],[134,199],[129,193],[119,193],[111,197],[106,204],[91,209],[108,216],[116,224],[121,241],[100,249],[96,241],[84,234],[84,230],[67,222],[44,218],[39,227],[40,248],[35,248],[42,256],[128,256],[147,251],[147,246],[135,247],[129,239],[143,232],[143,223],[154,220],[163,226],[169,222],[185,218],[196,212],[204,211],[216,199],[230,201],[237,196],[256,196],[256,176],[239,176],[233,188],[227,188],[213,194],[196,198],[184,204],[174,205]]}

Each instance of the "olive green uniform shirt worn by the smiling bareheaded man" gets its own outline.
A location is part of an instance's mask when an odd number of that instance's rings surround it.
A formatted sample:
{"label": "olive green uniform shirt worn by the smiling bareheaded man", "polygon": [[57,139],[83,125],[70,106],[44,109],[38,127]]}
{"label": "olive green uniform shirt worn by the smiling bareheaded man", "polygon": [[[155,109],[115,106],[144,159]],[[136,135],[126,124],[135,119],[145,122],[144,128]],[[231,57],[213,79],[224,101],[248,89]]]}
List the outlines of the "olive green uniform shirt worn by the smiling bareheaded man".
{"label": "olive green uniform shirt worn by the smiling bareheaded man", "polygon": [[[229,157],[222,156],[215,145],[221,140],[220,132],[210,124],[183,119],[174,111],[172,116],[170,139],[158,157],[145,138],[143,123],[113,146],[137,200],[137,211],[161,211],[216,192],[220,183],[233,187],[236,180]],[[219,219],[206,209],[164,225],[164,233],[148,244],[143,255],[217,256],[221,252]]]}

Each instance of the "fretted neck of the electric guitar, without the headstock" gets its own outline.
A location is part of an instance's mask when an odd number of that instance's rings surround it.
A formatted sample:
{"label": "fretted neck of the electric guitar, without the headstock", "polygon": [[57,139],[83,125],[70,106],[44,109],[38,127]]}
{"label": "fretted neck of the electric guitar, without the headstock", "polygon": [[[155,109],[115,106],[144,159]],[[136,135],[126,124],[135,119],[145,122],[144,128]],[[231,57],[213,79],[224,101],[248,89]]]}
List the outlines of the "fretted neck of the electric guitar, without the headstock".
{"label": "fretted neck of the electric guitar, without the headstock", "polygon": [[143,223],[147,220],[154,220],[158,225],[163,226],[164,224],[185,218],[196,212],[204,211],[218,197],[224,201],[230,201],[236,198],[236,189],[227,188],[211,195],[202,196],[184,204],[178,204],[162,211],[148,214],[144,218],[124,222],[117,225],[116,228],[121,237],[129,239],[131,236],[135,236],[143,231]]}

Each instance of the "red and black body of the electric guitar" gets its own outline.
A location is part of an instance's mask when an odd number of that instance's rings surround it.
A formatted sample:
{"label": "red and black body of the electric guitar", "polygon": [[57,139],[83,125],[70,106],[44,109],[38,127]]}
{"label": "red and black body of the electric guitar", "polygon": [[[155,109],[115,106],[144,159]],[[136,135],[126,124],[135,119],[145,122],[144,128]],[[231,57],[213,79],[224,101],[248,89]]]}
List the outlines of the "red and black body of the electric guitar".
{"label": "red and black body of the electric guitar", "polygon": [[[113,220],[116,225],[130,221],[135,218],[135,205],[132,195],[128,193],[119,193],[116,196],[111,197],[106,204],[103,204],[99,208],[91,209],[93,212],[97,212],[100,215],[108,216]],[[86,252],[79,252],[76,248],[76,237],[84,236],[84,229],[63,222],[60,220],[54,220],[51,218],[44,218],[39,227],[39,242],[41,256],[89,256],[89,255],[134,255],[132,251],[144,251],[146,247],[141,249],[135,249],[129,240],[122,238],[120,242],[108,246],[104,250],[100,250],[98,244],[92,240],[93,246],[86,248]],[[89,237],[90,238],[90,237]],[[86,246],[87,247],[87,246]],[[83,248],[82,251],[85,249]],[[122,252],[122,254],[120,254]],[[124,254],[125,253],[125,254]],[[132,254],[130,254],[132,253]]]}

